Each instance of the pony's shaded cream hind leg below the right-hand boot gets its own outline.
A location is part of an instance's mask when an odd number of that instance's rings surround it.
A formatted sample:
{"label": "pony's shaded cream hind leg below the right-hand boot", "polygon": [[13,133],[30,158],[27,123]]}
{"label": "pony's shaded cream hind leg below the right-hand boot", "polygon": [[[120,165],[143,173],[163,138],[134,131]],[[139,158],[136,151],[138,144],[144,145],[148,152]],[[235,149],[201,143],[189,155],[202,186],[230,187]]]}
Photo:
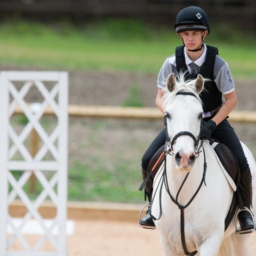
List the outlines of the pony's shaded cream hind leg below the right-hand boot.
{"label": "pony's shaded cream hind leg below the right-hand boot", "polygon": [[250,235],[249,234],[236,234],[235,232],[230,236],[232,256],[250,256]]}

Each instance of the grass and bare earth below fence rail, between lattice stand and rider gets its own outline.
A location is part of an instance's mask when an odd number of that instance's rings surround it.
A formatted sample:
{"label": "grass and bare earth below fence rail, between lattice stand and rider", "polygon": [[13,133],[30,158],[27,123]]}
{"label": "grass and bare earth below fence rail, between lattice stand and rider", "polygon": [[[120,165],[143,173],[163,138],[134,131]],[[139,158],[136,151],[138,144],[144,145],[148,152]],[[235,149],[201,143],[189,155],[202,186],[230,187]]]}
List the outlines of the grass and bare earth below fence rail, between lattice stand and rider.
{"label": "grass and bare earth below fence rail, between lattice stand and rider", "polygon": [[71,152],[73,157],[69,158],[69,200],[143,202],[144,194],[138,189],[142,182],[140,161],[145,150],[141,141],[147,138],[131,135],[138,127],[137,122],[84,121],[81,128],[84,127],[86,138],[77,141],[77,154]]}

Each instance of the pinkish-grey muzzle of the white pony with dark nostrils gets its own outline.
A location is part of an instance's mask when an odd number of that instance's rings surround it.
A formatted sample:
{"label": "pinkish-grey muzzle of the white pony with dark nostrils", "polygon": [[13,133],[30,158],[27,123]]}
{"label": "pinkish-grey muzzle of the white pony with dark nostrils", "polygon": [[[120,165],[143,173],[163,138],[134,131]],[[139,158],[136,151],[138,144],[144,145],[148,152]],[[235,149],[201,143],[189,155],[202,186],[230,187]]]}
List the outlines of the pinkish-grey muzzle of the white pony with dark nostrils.
{"label": "pinkish-grey muzzle of the white pony with dark nostrils", "polygon": [[189,172],[196,161],[196,154],[194,151],[188,154],[177,152],[174,159],[180,171]]}

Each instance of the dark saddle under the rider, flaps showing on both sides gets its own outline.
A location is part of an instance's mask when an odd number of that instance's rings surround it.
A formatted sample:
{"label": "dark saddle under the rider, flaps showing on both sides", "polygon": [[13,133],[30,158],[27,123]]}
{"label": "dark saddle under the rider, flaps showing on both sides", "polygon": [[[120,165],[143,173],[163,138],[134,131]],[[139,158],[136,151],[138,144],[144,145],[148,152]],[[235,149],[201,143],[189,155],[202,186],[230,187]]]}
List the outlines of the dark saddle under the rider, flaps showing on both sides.
{"label": "dark saddle under the rider, flaps showing on both sides", "polygon": [[[222,163],[223,167],[226,169],[229,177],[234,181],[236,187],[238,188],[241,176],[240,176],[239,165],[237,163],[237,160],[234,154],[230,151],[230,149],[227,146],[225,146],[222,143],[215,142],[214,140],[210,140],[210,145],[213,147],[215,153],[219,157],[219,160]],[[150,177],[152,181],[154,180],[154,177],[157,171],[159,170],[159,168],[164,162],[164,157],[159,159],[163,153],[163,150],[164,150],[164,146],[158,149],[158,151],[155,153],[155,155],[151,158],[149,162],[147,174],[149,175],[149,172],[151,170],[154,170],[151,172],[151,177]],[[243,202],[241,197],[239,196],[239,189],[234,191],[230,209],[228,211],[228,214],[225,220],[225,230],[228,228],[231,220],[235,215],[235,212],[237,210],[237,205],[239,205],[240,208],[243,208]]]}

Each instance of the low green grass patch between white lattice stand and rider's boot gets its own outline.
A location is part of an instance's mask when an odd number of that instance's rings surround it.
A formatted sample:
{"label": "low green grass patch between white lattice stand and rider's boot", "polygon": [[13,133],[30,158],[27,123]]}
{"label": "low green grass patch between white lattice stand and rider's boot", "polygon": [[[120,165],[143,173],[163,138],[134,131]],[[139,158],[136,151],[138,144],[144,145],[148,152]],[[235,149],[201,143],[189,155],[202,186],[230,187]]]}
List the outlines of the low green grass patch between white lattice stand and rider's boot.
{"label": "low green grass patch between white lattice stand and rider's boot", "polygon": [[82,164],[78,160],[69,169],[68,198],[75,201],[133,202],[143,200],[138,190],[141,175],[123,161],[112,168],[101,162]]}

